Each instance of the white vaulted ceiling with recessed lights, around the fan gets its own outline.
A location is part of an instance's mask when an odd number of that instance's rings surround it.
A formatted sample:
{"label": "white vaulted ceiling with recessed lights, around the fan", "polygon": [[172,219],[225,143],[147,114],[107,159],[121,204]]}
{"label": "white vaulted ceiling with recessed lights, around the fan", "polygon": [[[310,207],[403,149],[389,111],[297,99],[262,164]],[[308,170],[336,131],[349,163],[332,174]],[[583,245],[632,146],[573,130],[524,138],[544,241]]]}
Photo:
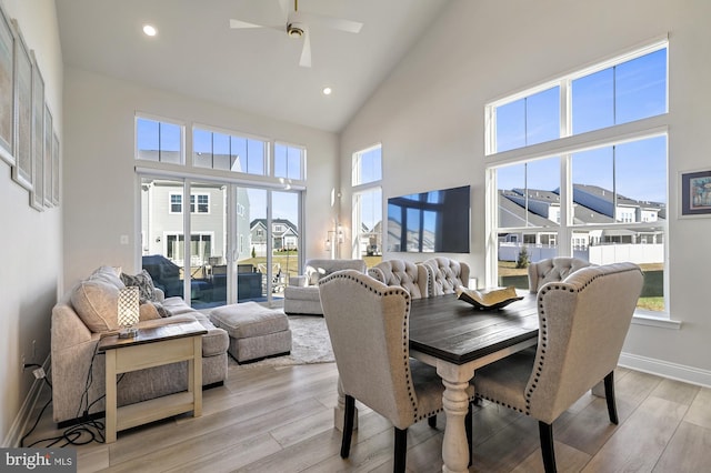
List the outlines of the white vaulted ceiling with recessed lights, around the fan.
{"label": "white vaulted ceiling with recessed lights, around the fan", "polygon": [[[67,66],[332,132],[448,2],[301,0],[299,12],[363,24],[358,33],[308,24],[312,63],[304,68],[303,39],[286,31],[293,0],[56,0]],[[231,29],[230,19],[282,30]],[[156,37],[143,34],[146,23]]]}

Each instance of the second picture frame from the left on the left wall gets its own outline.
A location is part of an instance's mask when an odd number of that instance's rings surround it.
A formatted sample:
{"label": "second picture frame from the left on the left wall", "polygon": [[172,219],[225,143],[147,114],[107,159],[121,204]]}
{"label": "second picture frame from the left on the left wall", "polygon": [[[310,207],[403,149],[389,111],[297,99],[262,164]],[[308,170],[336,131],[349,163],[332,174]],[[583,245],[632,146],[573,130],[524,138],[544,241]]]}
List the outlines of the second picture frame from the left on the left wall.
{"label": "second picture frame from the left on the left wall", "polygon": [[17,20],[14,28],[14,165],[12,179],[32,190],[32,62]]}

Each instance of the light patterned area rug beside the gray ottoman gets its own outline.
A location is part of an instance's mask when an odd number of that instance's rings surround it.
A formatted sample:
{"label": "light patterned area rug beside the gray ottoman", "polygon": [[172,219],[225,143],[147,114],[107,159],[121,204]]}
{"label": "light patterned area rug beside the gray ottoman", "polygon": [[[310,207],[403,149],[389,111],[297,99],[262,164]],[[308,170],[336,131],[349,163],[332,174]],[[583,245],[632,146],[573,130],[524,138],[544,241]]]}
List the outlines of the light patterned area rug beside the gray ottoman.
{"label": "light patterned area rug beside the gray ottoman", "polygon": [[289,315],[289,328],[291,329],[291,354],[244,364],[238,364],[230,356],[230,369],[291,366],[336,361],[329,331],[326,328],[326,319],[313,315]]}

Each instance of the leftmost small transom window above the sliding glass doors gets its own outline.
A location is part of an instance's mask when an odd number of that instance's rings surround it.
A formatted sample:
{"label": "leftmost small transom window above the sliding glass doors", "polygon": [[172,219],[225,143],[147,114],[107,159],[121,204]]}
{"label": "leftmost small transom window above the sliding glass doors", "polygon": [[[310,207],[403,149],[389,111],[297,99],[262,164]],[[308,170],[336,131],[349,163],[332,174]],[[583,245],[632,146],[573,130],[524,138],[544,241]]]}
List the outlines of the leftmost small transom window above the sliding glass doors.
{"label": "leftmost small transom window above the sliding glass doors", "polygon": [[167,121],[136,118],[136,159],[182,164],[183,127]]}

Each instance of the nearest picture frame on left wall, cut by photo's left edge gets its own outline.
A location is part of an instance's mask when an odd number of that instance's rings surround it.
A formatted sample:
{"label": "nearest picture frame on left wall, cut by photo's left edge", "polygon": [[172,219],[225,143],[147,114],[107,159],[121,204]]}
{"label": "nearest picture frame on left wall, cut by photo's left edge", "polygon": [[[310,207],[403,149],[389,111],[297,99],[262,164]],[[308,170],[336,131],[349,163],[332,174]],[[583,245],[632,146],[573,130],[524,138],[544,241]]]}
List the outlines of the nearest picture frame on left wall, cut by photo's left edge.
{"label": "nearest picture frame on left wall, cut by photo's left edge", "polygon": [[0,158],[14,165],[14,29],[0,6]]}

